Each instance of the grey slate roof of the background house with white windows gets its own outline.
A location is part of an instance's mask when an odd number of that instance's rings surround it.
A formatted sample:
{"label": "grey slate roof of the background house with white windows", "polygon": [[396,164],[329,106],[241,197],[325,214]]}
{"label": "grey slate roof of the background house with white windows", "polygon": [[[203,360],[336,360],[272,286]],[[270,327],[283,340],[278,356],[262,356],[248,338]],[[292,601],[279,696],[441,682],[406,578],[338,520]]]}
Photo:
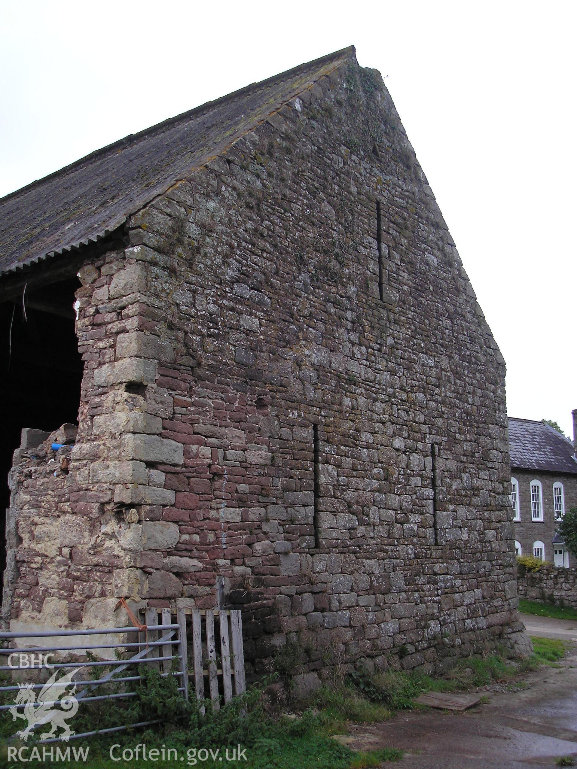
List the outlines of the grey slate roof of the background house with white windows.
{"label": "grey slate roof of the background house with white windows", "polygon": [[577,474],[572,442],[549,424],[509,417],[509,447],[513,468]]}

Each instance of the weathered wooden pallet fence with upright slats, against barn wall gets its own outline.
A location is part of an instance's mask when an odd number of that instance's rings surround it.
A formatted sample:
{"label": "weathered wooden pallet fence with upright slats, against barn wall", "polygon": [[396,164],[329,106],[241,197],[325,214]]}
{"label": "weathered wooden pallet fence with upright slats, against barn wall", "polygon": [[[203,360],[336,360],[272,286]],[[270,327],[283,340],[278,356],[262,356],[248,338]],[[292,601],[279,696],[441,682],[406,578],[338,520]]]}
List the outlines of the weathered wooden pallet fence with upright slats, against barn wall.
{"label": "weathered wooden pallet fence with upright slats, against barn wall", "polygon": [[[158,614],[162,613],[162,618]],[[150,627],[160,621],[168,623],[170,609],[148,608],[145,612]],[[229,702],[232,697],[242,694],[246,689],[245,657],[242,647],[242,614],[240,611],[218,611],[209,609],[180,609],[178,624],[182,631],[179,638],[186,639],[186,621],[189,622],[188,654],[182,651],[185,660],[192,661],[192,672],[185,677],[192,679],[198,701],[210,699],[215,710],[221,702]],[[192,633],[190,632],[192,628]],[[154,632],[154,631],[153,631]],[[165,657],[165,654],[162,654]],[[186,695],[188,696],[188,686]],[[202,706],[204,712],[204,706]]]}

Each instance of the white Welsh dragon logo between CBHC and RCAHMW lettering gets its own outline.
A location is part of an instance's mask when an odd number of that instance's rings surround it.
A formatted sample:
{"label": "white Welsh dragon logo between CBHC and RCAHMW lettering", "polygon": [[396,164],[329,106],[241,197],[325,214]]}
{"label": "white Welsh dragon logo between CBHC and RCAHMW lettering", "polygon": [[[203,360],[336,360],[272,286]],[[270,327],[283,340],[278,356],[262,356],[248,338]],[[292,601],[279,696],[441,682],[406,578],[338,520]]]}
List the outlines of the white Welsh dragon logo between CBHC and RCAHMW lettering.
{"label": "white Welsh dragon logo between CBHC and RCAHMW lettering", "polygon": [[[81,668],[82,669],[82,668]],[[78,700],[76,699],[76,681],[72,677],[78,671],[70,671],[56,680],[58,670],[54,671],[52,676],[44,684],[36,697],[34,684],[18,684],[19,691],[16,696],[15,704],[10,708],[12,721],[17,718],[24,718],[28,721],[28,726],[18,731],[18,737],[27,741],[37,727],[44,724],[52,724],[50,731],[45,731],[40,735],[41,740],[48,740],[54,737],[58,727],[62,729],[61,739],[68,742],[74,731],[68,726],[66,721],[73,718],[78,712]],[[71,687],[71,691],[67,689]],[[24,706],[24,713],[19,713],[17,706]],[[54,706],[60,706],[54,707]]]}

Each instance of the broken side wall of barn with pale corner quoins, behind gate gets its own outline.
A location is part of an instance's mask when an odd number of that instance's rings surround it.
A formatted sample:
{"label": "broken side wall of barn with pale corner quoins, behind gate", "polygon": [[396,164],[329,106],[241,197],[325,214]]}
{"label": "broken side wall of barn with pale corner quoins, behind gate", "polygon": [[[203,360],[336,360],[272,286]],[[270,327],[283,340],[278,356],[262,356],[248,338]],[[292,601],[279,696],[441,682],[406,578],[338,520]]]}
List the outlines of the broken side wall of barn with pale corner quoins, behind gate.
{"label": "broken side wall of barn with pale corner quoins, behind gate", "polygon": [[158,333],[150,265],[113,251],[88,259],[78,277],[85,368],[75,445],[17,451],[11,472],[2,610],[13,628],[114,624],[118,598],[180,598],[178,573],[200,568],[172,554],[178,526],[162,520],[175,491],[156,468],[182,464],[182,444],[160,437],[173,399],[155,381],[173,353]]}

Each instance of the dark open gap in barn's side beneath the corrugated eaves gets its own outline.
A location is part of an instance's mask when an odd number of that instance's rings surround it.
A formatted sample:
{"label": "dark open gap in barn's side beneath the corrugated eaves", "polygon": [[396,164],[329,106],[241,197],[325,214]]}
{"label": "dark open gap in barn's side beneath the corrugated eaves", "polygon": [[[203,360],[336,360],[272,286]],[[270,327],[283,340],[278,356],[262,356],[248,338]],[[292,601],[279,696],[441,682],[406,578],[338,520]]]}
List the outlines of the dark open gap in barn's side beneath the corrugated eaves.
{"label": "dark open gap in barn's side beneath the corrugated eaves", "polygon": [[52,432],[78,422],[82,358],[75,334],[78,278],[28,287],[0,304],[0,580],[4,579],[8,472],[22,428]]}

